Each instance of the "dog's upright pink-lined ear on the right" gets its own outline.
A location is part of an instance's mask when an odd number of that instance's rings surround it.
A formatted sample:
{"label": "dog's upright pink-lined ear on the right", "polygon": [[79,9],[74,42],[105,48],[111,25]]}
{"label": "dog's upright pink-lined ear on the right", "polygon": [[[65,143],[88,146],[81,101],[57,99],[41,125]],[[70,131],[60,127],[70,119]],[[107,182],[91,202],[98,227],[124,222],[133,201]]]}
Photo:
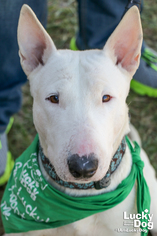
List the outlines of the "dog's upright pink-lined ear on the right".
{"label": "dog's upright pink-lined ear on the right", "polygon": [[139,66],[142,36],[139,10],[133,6],[124,15],[104,47],[115,65],[120,65],[125,69],[131,78]]}

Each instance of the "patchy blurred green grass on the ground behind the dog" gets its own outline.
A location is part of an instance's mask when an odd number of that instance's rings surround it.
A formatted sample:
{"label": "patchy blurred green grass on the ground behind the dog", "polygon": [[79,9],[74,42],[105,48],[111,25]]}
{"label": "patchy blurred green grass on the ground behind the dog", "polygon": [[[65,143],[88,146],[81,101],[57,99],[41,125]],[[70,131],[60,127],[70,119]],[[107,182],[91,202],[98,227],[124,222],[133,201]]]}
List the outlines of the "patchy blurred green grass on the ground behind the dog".
{"label": "patchy blurred green grass on the ground behind the dog", "polygon": [[[145,1],[142,14],[144,38],[157,51],[157,1]],[[70,39],[77,31],[77,12],[74,0],[48,0],[47,30],[57,48],[69,48]],[[130,91],[127,102],[131,122],[138,129],[143,148],[157,171],[157,99],[139,96]],[[14,125],[9,133],[9,149],[17,158],[32,142],[36,131],[32,119],[32,98],[28,83],[23,87],[22,109],[14,116]],[[0,189],[0,196],[3,188]],[[0,222],[0,235],[3,229]]]}

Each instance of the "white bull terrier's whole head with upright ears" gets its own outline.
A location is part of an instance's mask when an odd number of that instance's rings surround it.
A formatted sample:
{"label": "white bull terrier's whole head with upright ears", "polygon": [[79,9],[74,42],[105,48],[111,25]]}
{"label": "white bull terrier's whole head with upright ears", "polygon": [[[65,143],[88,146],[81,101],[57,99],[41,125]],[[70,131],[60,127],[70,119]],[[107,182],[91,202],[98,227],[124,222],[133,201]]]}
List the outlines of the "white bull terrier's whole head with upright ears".
{"label": "white bull terrier's whole head with upright ears", "polygon": [[126,97],[142,44],[138,9],[126,13],[103,50],[80,52],[57,50],[24,5],[18,43],[44,154],[65,181],[102,179],[129,131]]}

